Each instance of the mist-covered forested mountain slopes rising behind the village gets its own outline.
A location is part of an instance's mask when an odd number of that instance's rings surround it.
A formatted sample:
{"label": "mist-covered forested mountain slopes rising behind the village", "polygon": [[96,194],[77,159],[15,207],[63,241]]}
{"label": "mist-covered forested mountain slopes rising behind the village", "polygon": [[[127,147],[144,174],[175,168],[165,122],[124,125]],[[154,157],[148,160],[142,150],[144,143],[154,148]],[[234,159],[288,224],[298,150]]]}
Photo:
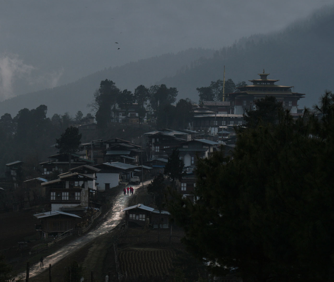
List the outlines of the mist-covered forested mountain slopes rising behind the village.
{"label": "mist-covered forested mountain slopes rising behind the village", "polygon": [[73,83],[28,93],[0,103],[0,114],[16,115],[22,108],[48,107],[48,116],[54,113],[78,110],[88,113],[100,81],[111,79],[121,90],[134,91],[144,84],[164,83],[177,87],[178,98],[198,101],[196,87],[208,86],[210,81],[223,78],[234,82],[257,79],[263,69],[277,84],[294,86],[294,91],[305,93],[300,107],[317,102],[325,89],[334,89],[332,58],[334,7],[316,11],[310,17],[298,20],[285,29],[270,34],[255,34],[220,50],[189,49],[177,54],[164,54],[124,66],[104,69]]}

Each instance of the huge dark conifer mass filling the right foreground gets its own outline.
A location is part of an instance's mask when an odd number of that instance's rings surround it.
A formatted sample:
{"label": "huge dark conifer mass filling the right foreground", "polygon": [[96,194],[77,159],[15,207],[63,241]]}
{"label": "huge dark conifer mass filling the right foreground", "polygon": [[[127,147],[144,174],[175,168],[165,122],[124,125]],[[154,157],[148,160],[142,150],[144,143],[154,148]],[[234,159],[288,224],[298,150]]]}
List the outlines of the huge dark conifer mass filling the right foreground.
{"label": "huge dark conifer mass filling the right foreground", "polygon": [[285,112],[238,132],[233,158],[199,160],[196,204],[174,195],[183,241],[213,271],[243,281],[334,280],[334,106],[326,95],[311,118]]}

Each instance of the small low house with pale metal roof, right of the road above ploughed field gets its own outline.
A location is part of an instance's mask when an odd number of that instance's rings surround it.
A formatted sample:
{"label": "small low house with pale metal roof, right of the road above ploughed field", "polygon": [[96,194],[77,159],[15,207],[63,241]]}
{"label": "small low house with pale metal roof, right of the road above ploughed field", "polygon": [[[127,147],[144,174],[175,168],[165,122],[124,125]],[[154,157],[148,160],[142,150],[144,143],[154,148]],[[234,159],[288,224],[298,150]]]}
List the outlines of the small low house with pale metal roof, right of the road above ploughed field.
{"label": "small low house with pale metal roof, right of the road above ploughed field", "polygon": [[151,225],[153,228],[158,228],[160,222],[160,228],[169,227],[170,213],[167,211],[161,211],[160,213],[159,210],[143,204],[127,207],[123,211],[125,211],[125,221],[129,226]]}

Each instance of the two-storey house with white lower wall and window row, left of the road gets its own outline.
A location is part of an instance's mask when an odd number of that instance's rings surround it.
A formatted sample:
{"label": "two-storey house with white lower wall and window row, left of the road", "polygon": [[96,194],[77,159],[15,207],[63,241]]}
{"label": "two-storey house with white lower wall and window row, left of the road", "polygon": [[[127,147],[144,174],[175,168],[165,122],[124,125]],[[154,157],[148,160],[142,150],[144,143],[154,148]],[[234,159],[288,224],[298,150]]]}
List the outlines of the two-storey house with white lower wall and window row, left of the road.
{"label": "two-storey house with white lower wall and window row, left of the road", "polygon": [[83,216],[88,207],[89,187],[88,182],[96,178],[86,174],[73,172],[59,175],[59,179],[44,182],[41,185],[47,187],[47,195],[50,197],[51,210],[69,212]]}

